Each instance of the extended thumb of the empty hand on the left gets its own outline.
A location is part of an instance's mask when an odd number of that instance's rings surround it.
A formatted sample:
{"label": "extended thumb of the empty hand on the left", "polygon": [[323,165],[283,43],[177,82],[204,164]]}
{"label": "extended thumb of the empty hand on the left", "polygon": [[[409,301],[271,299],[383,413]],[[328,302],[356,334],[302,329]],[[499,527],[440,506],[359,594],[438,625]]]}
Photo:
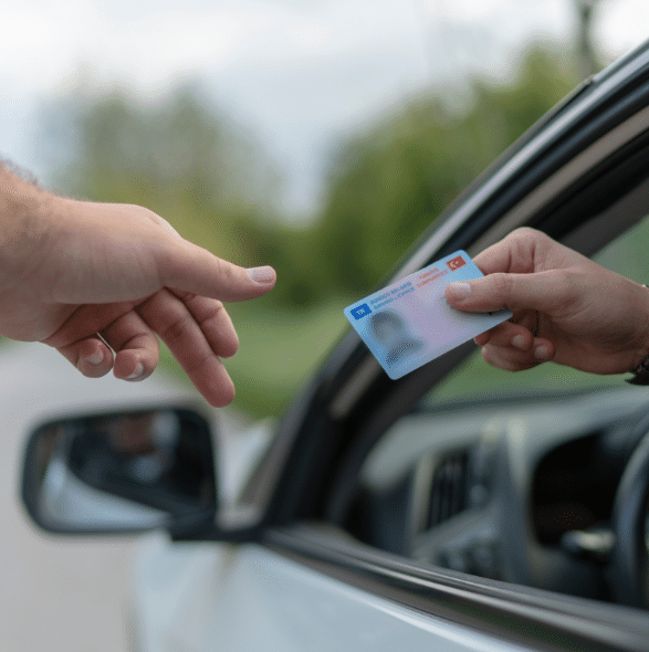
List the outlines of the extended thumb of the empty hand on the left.
{"label": "extended thumb of the empty hand on the left", "polygon": [[224,302],[261,296],[276,281],[275,271],[269,265],[240,267],[188,241],[165,252],[158,269],[165,287]]}

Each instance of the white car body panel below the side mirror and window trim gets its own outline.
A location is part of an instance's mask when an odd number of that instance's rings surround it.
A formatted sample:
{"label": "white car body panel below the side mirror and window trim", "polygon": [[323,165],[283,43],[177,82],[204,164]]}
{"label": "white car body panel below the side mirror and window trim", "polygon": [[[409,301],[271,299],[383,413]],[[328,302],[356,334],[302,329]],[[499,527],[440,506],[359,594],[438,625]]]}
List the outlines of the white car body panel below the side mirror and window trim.
{"label": "white car body panel below the side mirror and window trim", "polygon": [[142,652],[523,652],[255,545],[149,538],[134,559]]}

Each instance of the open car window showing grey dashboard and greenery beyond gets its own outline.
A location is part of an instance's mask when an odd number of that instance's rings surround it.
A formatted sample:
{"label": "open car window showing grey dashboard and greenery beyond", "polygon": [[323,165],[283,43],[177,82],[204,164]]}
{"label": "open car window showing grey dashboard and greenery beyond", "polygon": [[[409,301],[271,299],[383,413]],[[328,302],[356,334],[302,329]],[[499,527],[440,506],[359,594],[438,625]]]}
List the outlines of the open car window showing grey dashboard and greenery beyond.
{"label": "open car window showing grey dashboard and greenery beyond", "polygon": [[[649,218],[593,257],[643,283],[647,242]],[[568,539],[610,534],[629,419],[647,403],[619,375],[511,374],[477,350],[371,448],[345,528],[427,564],[608,600],[600,560]]]}

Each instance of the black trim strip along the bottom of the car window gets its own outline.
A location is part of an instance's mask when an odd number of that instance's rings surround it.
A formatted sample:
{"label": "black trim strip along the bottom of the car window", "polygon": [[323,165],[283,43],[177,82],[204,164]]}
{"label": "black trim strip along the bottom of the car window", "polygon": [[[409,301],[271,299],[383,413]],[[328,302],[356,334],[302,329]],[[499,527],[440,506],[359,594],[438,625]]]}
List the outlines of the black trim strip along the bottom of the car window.
{"label": "black trim strip along the bottom of the car window", "polygon": [[377,597],[500,641],[547,652],[648,649],[643,611],[437,570],[316,526],[270,529],[264,544]]}

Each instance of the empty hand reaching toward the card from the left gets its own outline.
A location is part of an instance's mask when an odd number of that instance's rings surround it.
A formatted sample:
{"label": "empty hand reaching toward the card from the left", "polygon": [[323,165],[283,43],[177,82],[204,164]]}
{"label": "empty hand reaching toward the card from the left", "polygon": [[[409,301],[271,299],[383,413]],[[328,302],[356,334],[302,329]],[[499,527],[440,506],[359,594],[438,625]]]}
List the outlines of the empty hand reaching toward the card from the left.
{"label": "empty hand reaching toward the card from the left", "polygon": [[209,403],[232,400],[220,358],[239,340],[221,302],[268,293],[272,267],[223,261],[136,206],[36,190],[1,204],[0,335],[49,344],[85,376],[113,369],[125,380],[153,372],[159,336]]}

